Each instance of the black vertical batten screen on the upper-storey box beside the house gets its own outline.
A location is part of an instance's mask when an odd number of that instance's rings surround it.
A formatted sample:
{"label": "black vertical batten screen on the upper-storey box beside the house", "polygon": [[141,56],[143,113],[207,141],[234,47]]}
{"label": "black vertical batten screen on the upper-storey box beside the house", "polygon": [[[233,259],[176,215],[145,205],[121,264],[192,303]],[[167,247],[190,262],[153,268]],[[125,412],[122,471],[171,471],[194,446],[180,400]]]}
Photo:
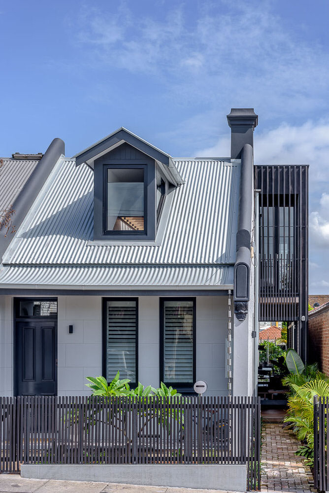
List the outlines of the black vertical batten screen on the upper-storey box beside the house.
{"label": "black vertical batten screen on the upper-storey box beside the house", "polygon": [[259,197],[259,319],[301,321],[306,357],[308,166],[255,166]]}

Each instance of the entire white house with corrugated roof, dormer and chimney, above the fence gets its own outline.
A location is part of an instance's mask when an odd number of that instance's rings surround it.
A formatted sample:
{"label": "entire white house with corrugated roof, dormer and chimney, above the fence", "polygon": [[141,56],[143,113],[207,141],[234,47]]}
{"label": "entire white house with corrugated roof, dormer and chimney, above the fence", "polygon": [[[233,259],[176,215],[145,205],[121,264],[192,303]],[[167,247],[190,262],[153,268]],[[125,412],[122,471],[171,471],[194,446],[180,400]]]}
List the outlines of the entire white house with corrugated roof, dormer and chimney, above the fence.
{"label": "entire white house with corrugated roof, dormer and chimney, above the fence", "polygon": [[[203,380],[206,395],[254,395],[265,316],[296,320],[305,359],[304,294],[287,279],[305,281],[307,244],[286,242],[302,195],[286,178],[287,192],[270,190],[272,171],[254,167],[254,110],[228,122],[228,158],[172,158],[124,128],[73,158],[60,139],[42,157],[3,158],[1,207],[14,214],[0,232],[1,395],[88,395],[86,377],[118,370],[132,387],[191,394]],[[266,225],[261,208],[287,224]],[[270,228],[288,255],[274,269]]]}

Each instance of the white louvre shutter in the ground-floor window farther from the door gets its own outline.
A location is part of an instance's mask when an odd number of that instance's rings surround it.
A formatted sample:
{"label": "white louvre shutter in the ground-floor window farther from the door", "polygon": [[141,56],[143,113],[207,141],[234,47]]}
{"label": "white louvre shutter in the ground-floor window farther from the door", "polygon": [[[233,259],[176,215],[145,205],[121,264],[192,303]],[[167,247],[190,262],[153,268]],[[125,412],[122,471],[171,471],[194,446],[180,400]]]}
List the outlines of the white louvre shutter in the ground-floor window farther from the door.
{"label": "white louvre shutter in the ground-floor window farther from the door", "polygon": [[193,301],[164,301],[164,380],[193,384]]}

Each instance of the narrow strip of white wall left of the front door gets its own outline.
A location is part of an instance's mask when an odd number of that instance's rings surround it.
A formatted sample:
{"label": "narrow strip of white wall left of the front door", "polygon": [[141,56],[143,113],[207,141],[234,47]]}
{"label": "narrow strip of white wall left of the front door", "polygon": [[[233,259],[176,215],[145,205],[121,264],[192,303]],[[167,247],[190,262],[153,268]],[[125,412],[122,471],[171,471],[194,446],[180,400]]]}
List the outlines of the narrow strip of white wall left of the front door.
{"label": "narrow strip of white wall left of the front door", "polygon": [[13,301],[0,296],[0,395],[13,395]]}

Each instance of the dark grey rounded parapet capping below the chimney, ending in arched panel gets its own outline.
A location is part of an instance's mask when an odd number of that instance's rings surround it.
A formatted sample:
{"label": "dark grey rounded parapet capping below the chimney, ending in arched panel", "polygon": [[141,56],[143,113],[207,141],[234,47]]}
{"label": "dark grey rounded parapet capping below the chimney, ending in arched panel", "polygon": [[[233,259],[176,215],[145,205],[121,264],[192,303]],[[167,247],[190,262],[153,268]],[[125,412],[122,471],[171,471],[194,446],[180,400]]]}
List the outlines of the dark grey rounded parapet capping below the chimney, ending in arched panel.
{"label": "dark grey rounded parapet capping below the chimney, ending in arched panel", "polygon": [[236,233],[236,261],[234,265],[234,301],[249,301],[250,297],[253,173],[253,148],[250,144],[245,144],[241,154],[239,215]]}

